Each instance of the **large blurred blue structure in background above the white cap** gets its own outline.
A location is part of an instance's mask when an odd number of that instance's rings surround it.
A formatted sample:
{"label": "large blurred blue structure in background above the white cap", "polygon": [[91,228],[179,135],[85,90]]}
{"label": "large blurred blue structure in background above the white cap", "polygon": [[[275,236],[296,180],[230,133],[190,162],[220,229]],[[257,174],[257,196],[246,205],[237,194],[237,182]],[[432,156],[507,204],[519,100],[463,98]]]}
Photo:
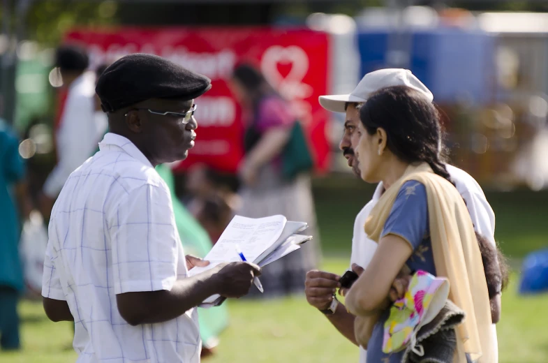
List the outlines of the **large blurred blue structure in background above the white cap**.
{"label": "large blurred blue structure in background above the white cap", "polygon": [[[389,29],[361,30],[357,43],[362,74],[390,66],[387,61]],[[496,68],[495,38],[483,31],[429,29],[411,31],[410,70],[434,94],[438,103],[461,98],[473,104],[493,101]]]}

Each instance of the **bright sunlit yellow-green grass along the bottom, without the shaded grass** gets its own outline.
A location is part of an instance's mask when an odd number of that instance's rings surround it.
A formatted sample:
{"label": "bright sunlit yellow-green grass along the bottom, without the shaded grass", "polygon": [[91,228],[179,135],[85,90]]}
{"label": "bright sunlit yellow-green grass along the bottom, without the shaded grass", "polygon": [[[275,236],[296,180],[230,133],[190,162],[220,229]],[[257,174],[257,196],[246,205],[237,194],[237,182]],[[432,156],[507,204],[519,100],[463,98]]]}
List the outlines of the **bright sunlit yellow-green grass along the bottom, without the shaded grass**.
{"label": "bright sunlit yellow-green grass along the bottom, without the shaded grass", "polygon": [[[325,269],[340,272],[348,262],[326,259]],[[501,363],[548,362],[547,295],[516,294],[517,275],[503,295],[503,319],[498,324]],[[304,297],[269,302],[230,301],[230,327],[211,363],[221,362],[357,362],[357,348],[346,341]],[[75,362],[70,323],[51,323],[38,302],[22,302],[21,353],[0,353],[6,363]]]}

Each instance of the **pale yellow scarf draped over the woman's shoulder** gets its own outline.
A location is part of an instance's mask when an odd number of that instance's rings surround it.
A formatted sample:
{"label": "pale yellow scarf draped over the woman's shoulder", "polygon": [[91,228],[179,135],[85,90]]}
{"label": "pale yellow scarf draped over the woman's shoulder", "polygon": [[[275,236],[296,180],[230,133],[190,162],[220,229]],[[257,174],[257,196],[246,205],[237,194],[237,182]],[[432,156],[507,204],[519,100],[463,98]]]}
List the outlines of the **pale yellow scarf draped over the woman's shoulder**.
{"label": "pale yellow scarf draped over the woman's shoulder", "polygon": [[473,223],[461,195],[450,182],[432,171],[427,163],[410,165],[390,186],[373,208],[365,223],[369,238],[378,242],[392,205],[405,182],[416,180],[427,191],[430,237],[436,274],[450,281],[449,299],[466,313],[457,327],[457,359],[466,362],[494,362],[491,339],[491,309],[480,248]]}

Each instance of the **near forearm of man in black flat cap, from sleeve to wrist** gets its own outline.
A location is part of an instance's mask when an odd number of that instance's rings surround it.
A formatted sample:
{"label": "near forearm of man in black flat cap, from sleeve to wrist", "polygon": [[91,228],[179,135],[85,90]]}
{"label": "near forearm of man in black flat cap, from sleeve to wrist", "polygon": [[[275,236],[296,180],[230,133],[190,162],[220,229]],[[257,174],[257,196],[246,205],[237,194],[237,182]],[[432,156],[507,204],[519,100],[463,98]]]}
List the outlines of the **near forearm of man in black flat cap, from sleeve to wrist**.
{"label": "near forearm of man in black flat cap, from sleeve to wrist", "polygon": [[163,323],[182,316],[218,293],[212,272],[175,281],[170,291],[126,292],[117,295],[121,316],[131,325]]}

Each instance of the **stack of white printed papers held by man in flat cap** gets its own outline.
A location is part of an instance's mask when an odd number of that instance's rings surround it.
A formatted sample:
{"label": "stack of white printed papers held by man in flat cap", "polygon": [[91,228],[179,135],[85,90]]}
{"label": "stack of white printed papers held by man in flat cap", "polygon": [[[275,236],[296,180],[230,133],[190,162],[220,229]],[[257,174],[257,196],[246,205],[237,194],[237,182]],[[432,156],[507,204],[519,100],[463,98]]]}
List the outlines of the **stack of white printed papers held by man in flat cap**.
{"label": "stack of white printed papers held by man in flat cap", "polygon": [[[206,267],[194,267],[188,276],[195,276],[212,269],[223,262],[241,261],[237,246],[249,262],[265,267],[283,256],[300,249],[300,245],[312,239],[312,236],[296,235],[308,228],[304,222],[288,221],[284,216],[266,218],[246,218],[235,216],[224,230],[219,241],[207,253],[204,260],[209,261]],[[224,298],[213,295],[200,307],[217,306]]]}

